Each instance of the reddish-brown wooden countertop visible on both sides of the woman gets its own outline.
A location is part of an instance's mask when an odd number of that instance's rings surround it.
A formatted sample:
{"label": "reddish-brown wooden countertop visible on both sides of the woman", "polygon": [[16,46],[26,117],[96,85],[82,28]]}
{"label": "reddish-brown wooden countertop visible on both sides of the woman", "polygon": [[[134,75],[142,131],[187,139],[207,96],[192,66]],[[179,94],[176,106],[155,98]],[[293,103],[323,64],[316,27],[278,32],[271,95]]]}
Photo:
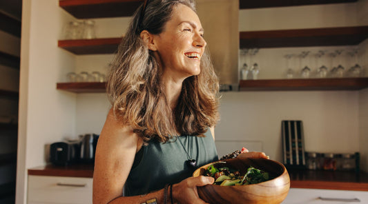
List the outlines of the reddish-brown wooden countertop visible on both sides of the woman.
{"label": "reddish-brown wooden countertop visible on both sides of the woman", "polygon": [[[368,191],[368,174],[318,170],[288,170],[296,188]],[[93,178],[93,164],[46,165],[28,169],[28,175]]]}

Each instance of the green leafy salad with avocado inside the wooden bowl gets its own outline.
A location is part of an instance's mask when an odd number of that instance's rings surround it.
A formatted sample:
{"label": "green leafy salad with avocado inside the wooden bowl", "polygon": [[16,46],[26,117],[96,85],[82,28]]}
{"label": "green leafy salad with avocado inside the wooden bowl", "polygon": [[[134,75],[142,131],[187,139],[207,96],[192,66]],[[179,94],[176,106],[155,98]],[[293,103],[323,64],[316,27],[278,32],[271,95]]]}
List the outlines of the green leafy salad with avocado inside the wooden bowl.
{"label": "green leafy salad with avocado inside the wooden bowl", "polygon": [[[220,161],[218,163],[225,163]],[[209,165],[209,167],[204,172],[204,176],[211,176],[215,178],[215,183],[213,185],[248,185],[261,183],[264,181],[269,181],[271,178],[268,172],[264,172],[255,167],[249,167],[244,175],[240,174],[239,170],[233,170],[231,167],[215,167]]]}

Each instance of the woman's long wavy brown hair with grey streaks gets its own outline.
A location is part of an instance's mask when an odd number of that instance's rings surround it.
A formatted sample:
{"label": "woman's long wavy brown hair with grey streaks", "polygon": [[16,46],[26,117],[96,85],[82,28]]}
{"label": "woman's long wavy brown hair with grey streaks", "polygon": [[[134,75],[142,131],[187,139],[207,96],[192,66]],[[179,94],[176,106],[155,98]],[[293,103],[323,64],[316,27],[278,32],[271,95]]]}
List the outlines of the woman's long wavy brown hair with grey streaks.
{"label": "woman's long wavy brown hair with grey streaks", "polygon": [[208,50],[202,56],[200,74],[184,80],[177,106],[171,110],[160,83],[161,65],[140,37],[143,30],[160,34],[178,3],[195,11],[193,0],[151,0],[146,8],[140,6],[108,73],[106,89],[115,116],[144,143],[153,138],[165,143],[177,132],[200,136],[219,119],[219,83]]}

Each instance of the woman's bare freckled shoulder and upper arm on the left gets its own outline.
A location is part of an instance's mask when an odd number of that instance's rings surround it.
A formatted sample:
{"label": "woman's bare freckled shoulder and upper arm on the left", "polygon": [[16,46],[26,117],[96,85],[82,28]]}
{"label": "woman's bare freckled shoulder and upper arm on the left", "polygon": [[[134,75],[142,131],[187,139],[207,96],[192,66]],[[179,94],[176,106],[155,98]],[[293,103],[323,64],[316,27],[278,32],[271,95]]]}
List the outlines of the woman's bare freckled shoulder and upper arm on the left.
{"label": "woman's bare freckled shoulder and upper arm on the left", "polygon": [[93,203],[108,203],[122,196],[133,165],[139,136],[118,121],[110,110],[99,136],[93,173]]}

